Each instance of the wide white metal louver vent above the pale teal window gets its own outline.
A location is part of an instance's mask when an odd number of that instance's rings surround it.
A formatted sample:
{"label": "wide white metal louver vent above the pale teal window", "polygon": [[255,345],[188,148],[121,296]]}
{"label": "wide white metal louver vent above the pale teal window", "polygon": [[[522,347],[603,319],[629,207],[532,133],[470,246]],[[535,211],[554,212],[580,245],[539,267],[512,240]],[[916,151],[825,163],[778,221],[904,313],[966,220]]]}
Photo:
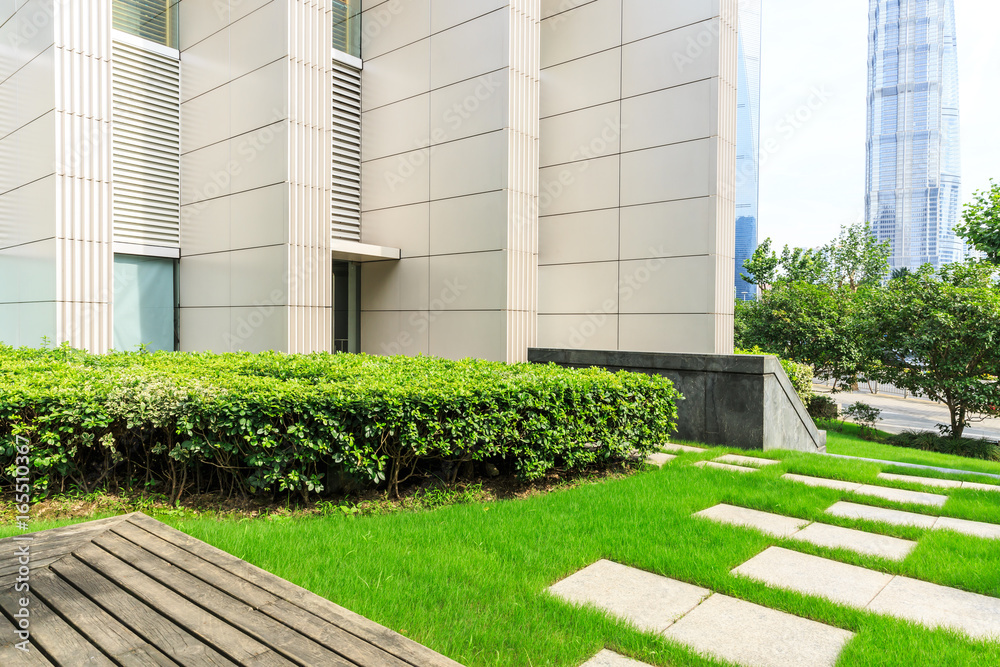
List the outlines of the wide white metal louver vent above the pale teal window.
{"label": "wide white metal louver vent above the pale teal window", "polygon": [[180,62],[112,50],[114,240],[180,245]]}

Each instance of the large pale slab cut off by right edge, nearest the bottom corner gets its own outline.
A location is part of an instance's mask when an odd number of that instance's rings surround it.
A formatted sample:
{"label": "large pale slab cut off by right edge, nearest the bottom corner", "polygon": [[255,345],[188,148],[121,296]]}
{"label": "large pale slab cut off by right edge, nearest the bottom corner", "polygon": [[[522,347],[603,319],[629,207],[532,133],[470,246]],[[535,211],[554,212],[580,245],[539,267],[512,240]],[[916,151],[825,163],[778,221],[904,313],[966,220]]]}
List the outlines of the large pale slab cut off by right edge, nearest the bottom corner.
{"label": "large pale slab cut off by right edge, nearest the bottom corner", "polygon": [[973,639],[1000,639],[1000,600],[926,581],[896,577],[868,609],[930,628],[952,628]]}

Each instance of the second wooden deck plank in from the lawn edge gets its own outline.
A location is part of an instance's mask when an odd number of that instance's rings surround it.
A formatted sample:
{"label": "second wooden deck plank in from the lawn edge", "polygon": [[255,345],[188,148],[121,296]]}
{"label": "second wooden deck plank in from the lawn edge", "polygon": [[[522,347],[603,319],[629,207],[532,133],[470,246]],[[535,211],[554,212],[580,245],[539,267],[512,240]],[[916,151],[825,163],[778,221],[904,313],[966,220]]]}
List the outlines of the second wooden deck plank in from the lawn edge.
{"label": "second wooden deck plank in from the lawn edge", "polygon": [[153,535],[134,523],[119,524],[112,532],[146,551],[157,554],[175,567],[185,570],[261,613],[294,628],[299,633],[352,662],[366,667],[406,667],[408,664],[364,639],[356,637],[286,600],[275,597],[246,579],[237,577],[201,557]]}

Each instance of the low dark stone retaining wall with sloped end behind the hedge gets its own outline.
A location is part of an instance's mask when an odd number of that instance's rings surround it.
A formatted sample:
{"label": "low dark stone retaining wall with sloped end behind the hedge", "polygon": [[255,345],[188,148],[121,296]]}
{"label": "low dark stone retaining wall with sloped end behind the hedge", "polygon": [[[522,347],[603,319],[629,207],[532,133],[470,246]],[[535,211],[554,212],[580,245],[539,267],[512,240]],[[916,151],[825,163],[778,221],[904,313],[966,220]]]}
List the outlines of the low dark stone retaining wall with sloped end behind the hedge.
{"label": "low dark stone retaining wall with sloped end behind the hedge", "polygon": [[532,348],[528,360],[571,368],[665,375],[684,395],[677,437],[740,449],[825,452],[816,428],[777,358]]}

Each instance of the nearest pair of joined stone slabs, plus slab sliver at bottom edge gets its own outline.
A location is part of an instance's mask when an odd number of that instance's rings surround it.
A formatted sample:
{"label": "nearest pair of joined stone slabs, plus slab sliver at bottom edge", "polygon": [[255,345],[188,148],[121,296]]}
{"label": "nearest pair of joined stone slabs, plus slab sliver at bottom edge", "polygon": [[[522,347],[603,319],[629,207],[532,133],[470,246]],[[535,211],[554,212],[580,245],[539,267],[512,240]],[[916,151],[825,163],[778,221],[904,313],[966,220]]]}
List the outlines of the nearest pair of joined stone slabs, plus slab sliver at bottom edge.
{"label": "nearest pair of joined stone slabs, plus slab sliver at bottom edge", "polygon": [[[754,667],[833,667],[854,633],[601,560],[549,591],[592,604],[703,655]],[[588,667],[632,667],[602,651]],[[637,663],[642,664],[642,663]]]}

